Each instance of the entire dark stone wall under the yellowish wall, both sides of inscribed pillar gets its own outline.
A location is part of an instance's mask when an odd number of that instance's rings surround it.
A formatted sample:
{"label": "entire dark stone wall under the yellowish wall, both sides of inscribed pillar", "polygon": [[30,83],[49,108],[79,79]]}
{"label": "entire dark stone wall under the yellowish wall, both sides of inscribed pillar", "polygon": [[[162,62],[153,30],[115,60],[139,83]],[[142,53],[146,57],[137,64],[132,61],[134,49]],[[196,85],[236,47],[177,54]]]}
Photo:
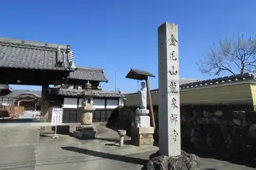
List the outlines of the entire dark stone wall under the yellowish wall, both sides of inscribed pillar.
{"label": "entire dark stone wall under the yellowish wall, both sides of inscribed pillar", "polygon": [[[131,129],[136,108],[123,108],[115,121],[118,129]],[[158,140],[158,107],[155,140]],[[247,157],[256,151],[256,112],[249,106],[182,106],[181,138],[189,147],[215,157]]]}

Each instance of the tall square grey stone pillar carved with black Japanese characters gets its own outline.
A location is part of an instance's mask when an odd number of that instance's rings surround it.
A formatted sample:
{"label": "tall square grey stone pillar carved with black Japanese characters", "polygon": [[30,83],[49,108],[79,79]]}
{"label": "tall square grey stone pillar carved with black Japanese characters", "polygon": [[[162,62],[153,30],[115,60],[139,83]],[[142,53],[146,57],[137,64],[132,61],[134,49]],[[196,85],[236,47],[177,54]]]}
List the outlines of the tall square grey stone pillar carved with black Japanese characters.
{"label": "tall square grey stone pillar carved with black Japanese characters", "polygon": [[158,28],[159,152],[181,155],[178,26]]}

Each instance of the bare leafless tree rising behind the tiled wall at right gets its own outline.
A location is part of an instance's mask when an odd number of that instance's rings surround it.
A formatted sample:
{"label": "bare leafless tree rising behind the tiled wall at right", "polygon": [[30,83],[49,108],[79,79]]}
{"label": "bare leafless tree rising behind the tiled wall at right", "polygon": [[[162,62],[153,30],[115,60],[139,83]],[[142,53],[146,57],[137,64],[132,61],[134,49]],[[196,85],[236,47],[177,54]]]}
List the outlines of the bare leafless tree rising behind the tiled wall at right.
{"label": "bare leafless tree rising behind the tiled wall at right", "polygon": [[[215,48],[214,48],[215,47]],[[256,72],[256,37],[244,39],[243,34],[233,35],[230,39],[219,40],[219,45],[210,46],[197,65],[205,76],[229,72],[232,75]]]}

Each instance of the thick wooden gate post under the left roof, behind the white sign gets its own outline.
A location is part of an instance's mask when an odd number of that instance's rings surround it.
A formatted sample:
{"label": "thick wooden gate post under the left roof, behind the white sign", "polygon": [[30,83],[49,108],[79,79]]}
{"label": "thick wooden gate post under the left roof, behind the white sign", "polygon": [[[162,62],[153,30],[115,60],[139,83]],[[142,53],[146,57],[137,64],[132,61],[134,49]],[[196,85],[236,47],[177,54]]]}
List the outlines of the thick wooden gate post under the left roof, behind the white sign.
{"label": "thick wooden gate post under the left roof, behind the white sign", "polygon": [[42,85],[40,122],[47,122],[49,108],[49,84],[45,84]]}

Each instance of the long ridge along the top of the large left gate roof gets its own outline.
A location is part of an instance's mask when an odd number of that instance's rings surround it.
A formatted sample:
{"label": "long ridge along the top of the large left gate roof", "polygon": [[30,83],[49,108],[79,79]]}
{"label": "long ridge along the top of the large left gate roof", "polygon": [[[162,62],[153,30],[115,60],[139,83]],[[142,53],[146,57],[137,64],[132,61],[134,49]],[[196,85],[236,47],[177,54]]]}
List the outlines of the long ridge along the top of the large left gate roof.
{"label": "long ridge along the top of the large left gate roof", "polygon": [[10,45],[20,45],[20,46],[30,46],[30,47],[39,47],[39,48],[48,48],[48,49],[56,49],[61,48],[65,50],[71,50],[71,45],[61,45],[54,43],[46,43],[46,42],[38,42],[38,41],[30,41],[30,40],[21,40],[21,39],[13,39],[13,38],[5,38],[0,37],[0,43],[10,44]]}

